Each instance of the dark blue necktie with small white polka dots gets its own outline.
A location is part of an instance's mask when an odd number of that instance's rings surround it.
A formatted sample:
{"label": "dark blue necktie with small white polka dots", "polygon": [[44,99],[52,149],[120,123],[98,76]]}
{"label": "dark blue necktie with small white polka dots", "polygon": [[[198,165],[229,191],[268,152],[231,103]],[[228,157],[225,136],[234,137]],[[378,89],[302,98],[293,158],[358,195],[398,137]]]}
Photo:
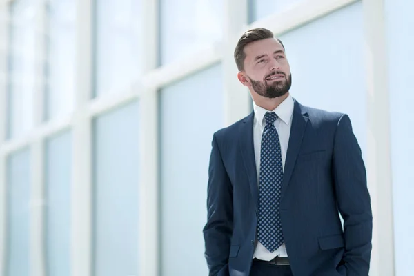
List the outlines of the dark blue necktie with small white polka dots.
{"label": "dark blue necktie with small white polka dots", "polygon": [[275,128],[277,115],[266,112],[266,126],[260,149],[259,215],[257,239],[270,252],[284,242],[280,223],[280,195],[282,192],[283,165],[279,135]]}

